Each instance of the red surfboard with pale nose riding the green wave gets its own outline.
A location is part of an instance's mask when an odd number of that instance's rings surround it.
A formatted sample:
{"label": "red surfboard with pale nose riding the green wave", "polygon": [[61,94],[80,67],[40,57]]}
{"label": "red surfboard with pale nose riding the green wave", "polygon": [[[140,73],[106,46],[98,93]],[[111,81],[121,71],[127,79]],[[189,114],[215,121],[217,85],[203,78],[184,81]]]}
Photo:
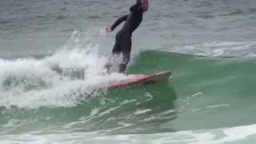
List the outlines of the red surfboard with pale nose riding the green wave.
{"label": "red surfboard with pale nose riding the green wave", "polygon": [[171,78],[171,71],[164,71],[157,74],[130,74],[130,78],[122,80],[121,82],[116,82],[113,85],[108,86],[108,89],[117,89],[129,86],[138,86],[142,84],[154,83],[166,81]]}

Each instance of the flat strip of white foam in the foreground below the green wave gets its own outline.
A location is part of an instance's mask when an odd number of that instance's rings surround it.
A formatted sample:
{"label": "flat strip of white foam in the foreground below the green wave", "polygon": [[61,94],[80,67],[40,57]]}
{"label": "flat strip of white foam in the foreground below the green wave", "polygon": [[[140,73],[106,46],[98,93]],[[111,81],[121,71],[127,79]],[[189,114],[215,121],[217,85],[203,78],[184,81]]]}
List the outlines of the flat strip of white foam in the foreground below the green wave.
{"label": "flat strip of white foam in the foreground below the green wave", "polygon": [[[130,126],[129,123],[120,123]],[[102,131],[103,132],[103,131]],[[78,133],[66,131],[59,134],[2,134],[1,143],[187,143],[187,144],[223,144],[242,141],[256,134],[256,125],[219,128],[216,130],[186,130],[173,133],[159,134],[117,134],[105,135],[92,133]],[[248,140],[248,139],[247,139]],[[247,141],[246,141],[247,142]],[[249,142],[253,143],[254,139]]]}

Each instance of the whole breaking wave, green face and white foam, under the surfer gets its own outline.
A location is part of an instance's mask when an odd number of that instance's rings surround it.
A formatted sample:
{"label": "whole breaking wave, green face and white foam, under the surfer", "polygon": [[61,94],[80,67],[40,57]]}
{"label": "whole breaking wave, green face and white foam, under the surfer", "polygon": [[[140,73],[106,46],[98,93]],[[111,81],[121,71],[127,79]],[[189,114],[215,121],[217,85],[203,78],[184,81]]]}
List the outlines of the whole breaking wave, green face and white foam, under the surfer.
{"label": "whole breaking wave, green face and white foam, under the surfer", "polygon": [[[25,135],[34,142],[43,138],[68,143],[83,142],[82,138],[88,138],[85,142],[157,141],[154,137],[165,141],[170,135],[177,141],[186,137],[187,142],[222,143],[255,134],[250,131],[234,137],[239,130],[250,130],[256,120],[250,114],[255,109],[254,58],[144,51],[134,58],[128,73],[173,70],[174,77],[167,82],[106,90],[104,86],[113,79],[126,76],[104,75],[99,66],[106,58],[94,54],[61,50],[42,59],[2,60],[2,142],[26,141]],[[90,66],[94,56],[97,68],[95,63]],[[94,73],[88,74],[90,70]],[[148,135],[144,139],[141,134]],[[61,137],[67,139],[58,140]]]}

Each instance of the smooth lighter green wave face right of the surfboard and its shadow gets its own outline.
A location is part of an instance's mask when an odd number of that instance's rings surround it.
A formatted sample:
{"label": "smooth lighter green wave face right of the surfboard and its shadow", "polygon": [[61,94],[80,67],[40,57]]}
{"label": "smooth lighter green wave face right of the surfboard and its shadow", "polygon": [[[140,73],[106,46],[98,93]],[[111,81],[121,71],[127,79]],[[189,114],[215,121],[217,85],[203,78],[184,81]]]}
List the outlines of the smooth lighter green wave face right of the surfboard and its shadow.
{"label": "smooth lighter green wave face right of the surfboard and its shadow", "polygon": [[[172,70],[170,85],[178,111],[166,126],[174,130],[215,129],[253,124],[254,58],[206,58],[145,51],[130,73]],[[166,94],[165,90],[161,90]]]}

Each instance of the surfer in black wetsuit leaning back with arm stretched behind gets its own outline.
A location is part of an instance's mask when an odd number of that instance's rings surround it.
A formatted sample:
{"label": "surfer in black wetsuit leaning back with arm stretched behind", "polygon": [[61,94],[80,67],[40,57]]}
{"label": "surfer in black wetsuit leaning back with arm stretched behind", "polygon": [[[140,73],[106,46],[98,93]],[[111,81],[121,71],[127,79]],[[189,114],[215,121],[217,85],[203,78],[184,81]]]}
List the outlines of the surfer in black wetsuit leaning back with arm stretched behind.
{"label": "surfer in black wetsuit leaning back with arm stretched behind", "polygon": [[[112,50],[112,58],[114,55],[122,53],[122,62],[119,65],[119,72],[124,72],[126,70],[126,66],[130,61],[131,36],[134,30],[136,30],[142,22],[143,13],[148,9],[148,0],[137,0],[136,4],[130,7],[130,14],[126,14],[121,18],[118,18],[112,26],[106,28],[107,32],[111,32],[123,21],[126,21],[124,26],[122,26],[122,29],[116,34],[115,44]],[[109,69],[110,66],[110,64],[107,64],[106,68]]]}

